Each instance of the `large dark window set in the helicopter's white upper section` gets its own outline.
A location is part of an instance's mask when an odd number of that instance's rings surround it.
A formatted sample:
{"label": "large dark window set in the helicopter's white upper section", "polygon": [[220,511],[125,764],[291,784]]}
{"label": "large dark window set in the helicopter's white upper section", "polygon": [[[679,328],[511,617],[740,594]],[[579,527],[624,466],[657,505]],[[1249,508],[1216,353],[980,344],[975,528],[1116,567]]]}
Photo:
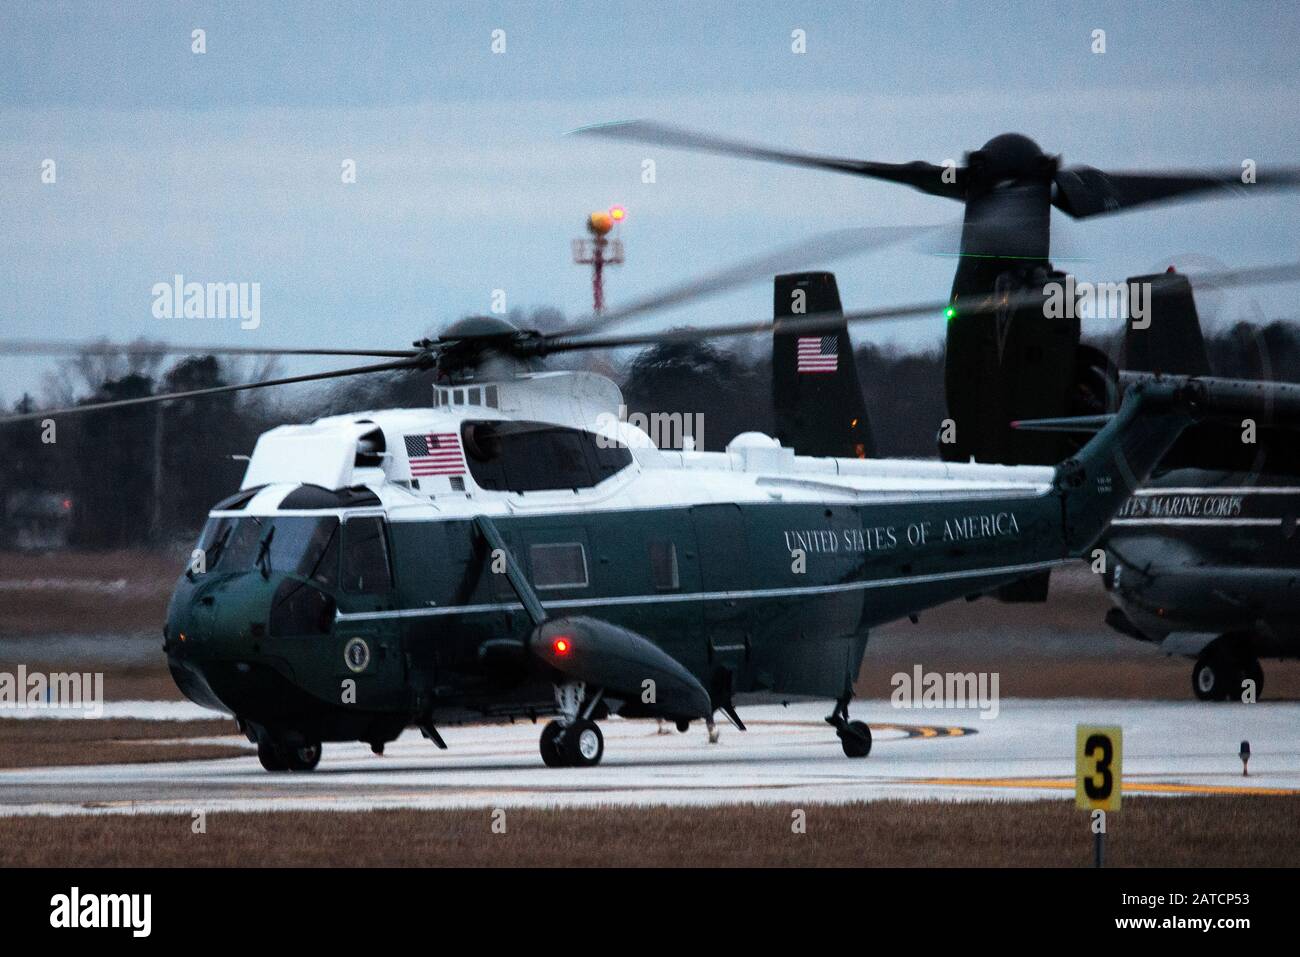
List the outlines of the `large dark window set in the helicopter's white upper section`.
{"label": "large dark window set in the helicopter's white upper section", "polygon": [[460,436],[469,473],[490,492],[590,489],[632,464],[627,446],[549,423],[469,421]]}

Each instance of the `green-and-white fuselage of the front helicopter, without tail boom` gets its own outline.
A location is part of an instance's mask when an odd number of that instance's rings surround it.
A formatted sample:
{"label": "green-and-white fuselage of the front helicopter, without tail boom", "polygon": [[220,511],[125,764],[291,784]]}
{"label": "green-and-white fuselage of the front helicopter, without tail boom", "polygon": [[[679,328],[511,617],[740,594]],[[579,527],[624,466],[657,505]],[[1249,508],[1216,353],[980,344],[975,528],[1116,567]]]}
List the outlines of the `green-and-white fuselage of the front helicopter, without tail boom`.
{"label": "green-and-white fuselage of the front helicopter, without tail boom", "polygon": [[[396,450],[384,471],[359,469],[369,481],[268,482],[212,511],[166,629],[199,703],[317,741],[554,711],[552,677],[523,653],[533,623],[478,515],[547,614],[646,636],[716,702],[846,696],[871,627],[1067,558],[1050,468],[815,459],[755,434],[727,452],[611,439],[608,476],[536,478],[541,460],[506,460],[530,464],[533,485],[580,484],[510,490],[485,488],[512,482],[463,438],[445,467],[412,464],[403,442],[506,425],[491,410],[363,417]],[[294,428],[329,445],[354,441],[351,425]],[[597,454],[593,433],[538,426],[547,438],[534,429],[519,454]]]}

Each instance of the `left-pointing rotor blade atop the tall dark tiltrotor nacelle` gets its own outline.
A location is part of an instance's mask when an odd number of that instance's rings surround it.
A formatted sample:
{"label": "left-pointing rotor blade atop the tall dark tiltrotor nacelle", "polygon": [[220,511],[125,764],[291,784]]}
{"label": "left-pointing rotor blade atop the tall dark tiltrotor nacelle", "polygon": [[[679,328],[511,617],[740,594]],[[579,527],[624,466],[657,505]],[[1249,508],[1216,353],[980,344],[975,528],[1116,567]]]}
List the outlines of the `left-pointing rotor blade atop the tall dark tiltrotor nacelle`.
{"label": "left-pointing rotor blade atop the tall dark tiltrotor nacelle", "polygon": [[573,130],[571,135],[602,137],[604,139],[621,139],[633,143],[647,143],[650,146],[720,153],[723,156],[740,156],[748,160],[829,169],[837,173],[853,173],[854,176],[868,176],[875,179],[902,183],[922,192],[928,192],[932,196],[946,196],[948,199],[962,199],[965,196],[963,169],[953,169],[948,177],[953,182],[944,182],[944,172],[949,168],[936,166],[932,163],[922,163],[919,160],[914,163],[871,163],[870,160],[850,160],[840,156],[774,150],[755,143],[724,139],[723,137],[696,133],[694,130],[658,124],[650,120],[595,124]]}

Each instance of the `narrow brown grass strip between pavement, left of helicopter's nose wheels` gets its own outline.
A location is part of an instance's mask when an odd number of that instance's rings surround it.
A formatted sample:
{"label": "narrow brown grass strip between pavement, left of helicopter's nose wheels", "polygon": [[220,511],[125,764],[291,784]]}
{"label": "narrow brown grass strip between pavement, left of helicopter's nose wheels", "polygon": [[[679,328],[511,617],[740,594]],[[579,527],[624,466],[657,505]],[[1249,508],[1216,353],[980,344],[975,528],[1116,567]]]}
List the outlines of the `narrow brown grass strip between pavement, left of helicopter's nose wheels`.
{"label": "narrow brown grass strip between pavement, left of helicopter's nose wheels", "polygon": [[0,720],[0,768],[57,765],[127,765],[247,754],[239,746],[164,744],[164,740],[235,733],[234,722],[147,722],[126,719]]}

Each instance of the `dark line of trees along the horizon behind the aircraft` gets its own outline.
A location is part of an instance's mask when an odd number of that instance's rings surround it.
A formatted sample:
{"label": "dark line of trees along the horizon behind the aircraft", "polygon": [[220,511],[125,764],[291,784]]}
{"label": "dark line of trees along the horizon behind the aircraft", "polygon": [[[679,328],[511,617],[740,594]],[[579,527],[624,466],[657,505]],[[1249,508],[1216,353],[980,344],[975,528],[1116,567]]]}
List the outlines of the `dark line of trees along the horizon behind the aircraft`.
{"label": "dark line of trees along the horizon behind the aircraft", "polygon": [[[552,309],[515,316],[555,328]],[[1097,343],[1117,355],[1114,343]],[[1238,325],[1208,341],[1217,374],[1300,381],[1300,333],[1286,324]],[[703,413],[703,447],[737,433],[771,433],[771,363],[755,343],[734,352],[710,343],[649,348],[628,363],[612,356],[563,358],[547,368],[592,368],[620,382],[629,412]],[[861,346],[855,352],[876,443],[884,456],[930,458],[944,417],[942,355]],[[104,402],[270,377],[213,356],[168,368],[139,355],[81,356],[47,387],[47,403]],[[55,434],[40,420],[0,426],[0,547],[13,546],[18,514],[57,501],[62,538],[108,549],[192,537],[211,506],[240,482],[261,432],[352,410],[428,404],[433,373],[344,380],[315,402],[289,404],[263,391],[61,416]],[[273,390],[270,390],[273,391]],[[79,398],[78,398],[79,397]],[[23,397],[14,411],[36,408]]]}

